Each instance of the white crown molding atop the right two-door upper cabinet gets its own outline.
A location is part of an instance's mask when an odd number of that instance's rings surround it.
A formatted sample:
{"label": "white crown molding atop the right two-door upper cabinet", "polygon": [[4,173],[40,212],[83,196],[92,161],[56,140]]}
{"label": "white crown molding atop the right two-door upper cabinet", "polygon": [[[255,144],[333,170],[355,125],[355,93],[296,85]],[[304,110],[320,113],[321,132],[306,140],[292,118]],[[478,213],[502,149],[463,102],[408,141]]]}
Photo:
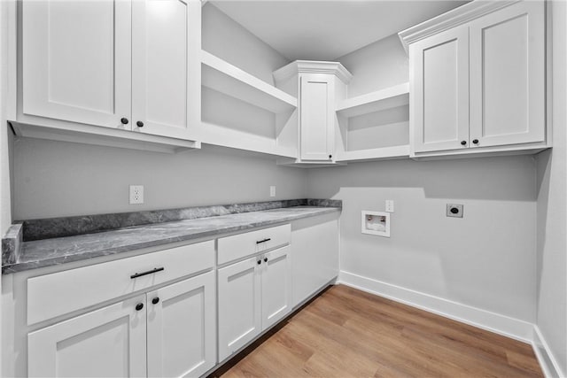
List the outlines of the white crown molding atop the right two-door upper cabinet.
{"label": "white crown molding atop the right two-door upper cabinet", "polygon": [[[409,51],[409,45],[419,41],[430,35],[436,35],[452,27],[458,27],[473,19],[478,19],[487,13],[497,11],[511,4],[518,3],[521,0],[475,0],[468,4],[464,4],[452,11],[440,14],[437,17],[423,21],[414,27],[398,33],[401,44],[404,46],[406,53]],[[542,1],[542,0],[537,0]]]}

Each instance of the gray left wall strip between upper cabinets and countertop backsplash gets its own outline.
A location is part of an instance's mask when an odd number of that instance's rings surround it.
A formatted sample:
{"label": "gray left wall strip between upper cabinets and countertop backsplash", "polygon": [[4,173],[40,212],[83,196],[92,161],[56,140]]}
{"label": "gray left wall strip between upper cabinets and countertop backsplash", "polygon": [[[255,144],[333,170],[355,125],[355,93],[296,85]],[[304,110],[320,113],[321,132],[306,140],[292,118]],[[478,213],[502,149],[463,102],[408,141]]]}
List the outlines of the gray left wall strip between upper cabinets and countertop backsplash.
{"label": "gray left wall strip between upper cabinets and countertop backsplash", "polygon": [[[28,138],[15,147],[16,220],[307,195],[305,170],[219,148],[161,154]],[[128,204],[130,184],[144,185],[144,204]]]}

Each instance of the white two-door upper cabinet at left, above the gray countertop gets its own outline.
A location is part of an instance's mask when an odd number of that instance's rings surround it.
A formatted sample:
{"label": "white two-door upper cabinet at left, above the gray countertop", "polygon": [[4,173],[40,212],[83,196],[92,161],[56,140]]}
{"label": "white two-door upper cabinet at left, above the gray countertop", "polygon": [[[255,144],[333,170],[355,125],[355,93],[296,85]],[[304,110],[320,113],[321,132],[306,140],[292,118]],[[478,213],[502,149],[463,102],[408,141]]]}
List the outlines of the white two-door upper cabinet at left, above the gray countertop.
{"label": "white two-door upper cabinet at left, above the gray countertop", "polygon": [[194,139],[200,7],[198,0],[23,0],[17,121]]}

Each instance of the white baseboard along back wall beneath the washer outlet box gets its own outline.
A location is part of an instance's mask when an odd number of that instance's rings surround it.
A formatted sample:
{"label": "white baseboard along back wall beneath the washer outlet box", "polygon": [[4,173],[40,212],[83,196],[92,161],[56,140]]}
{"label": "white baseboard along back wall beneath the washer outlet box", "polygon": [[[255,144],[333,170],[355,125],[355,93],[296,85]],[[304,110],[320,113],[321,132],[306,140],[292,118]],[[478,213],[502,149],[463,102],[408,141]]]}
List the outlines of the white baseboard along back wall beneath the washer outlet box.
{"label": "white baseboard along back wall beneath the washer outlet box", "polygon": [[470,305],[462,305],[441,297],[434,297],[416,290],[405,289],[345,271],[339,273],[338,281],[346,286],[386,297],[405,305],[411,305],[427,312],[433,312],[474,327],[483,328],[524,343],[532,343],[533,341],[533,324],[528,321],[510,318]]}

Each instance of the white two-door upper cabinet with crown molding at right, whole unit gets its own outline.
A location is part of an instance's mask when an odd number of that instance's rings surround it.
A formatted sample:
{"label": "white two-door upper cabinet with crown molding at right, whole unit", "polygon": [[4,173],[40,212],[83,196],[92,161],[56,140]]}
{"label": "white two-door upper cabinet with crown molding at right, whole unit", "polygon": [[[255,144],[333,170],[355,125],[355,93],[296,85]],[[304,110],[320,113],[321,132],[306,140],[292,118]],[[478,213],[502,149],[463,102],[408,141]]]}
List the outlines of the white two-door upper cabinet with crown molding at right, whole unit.
{"label": "white two-door upper cabinet with crown molding at right, whole unit", "polygon": [[413,157],[551,145],[543,1],[472,2],[400,38],[409,50]]}

